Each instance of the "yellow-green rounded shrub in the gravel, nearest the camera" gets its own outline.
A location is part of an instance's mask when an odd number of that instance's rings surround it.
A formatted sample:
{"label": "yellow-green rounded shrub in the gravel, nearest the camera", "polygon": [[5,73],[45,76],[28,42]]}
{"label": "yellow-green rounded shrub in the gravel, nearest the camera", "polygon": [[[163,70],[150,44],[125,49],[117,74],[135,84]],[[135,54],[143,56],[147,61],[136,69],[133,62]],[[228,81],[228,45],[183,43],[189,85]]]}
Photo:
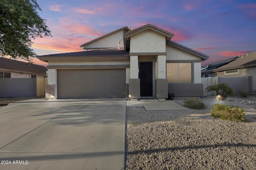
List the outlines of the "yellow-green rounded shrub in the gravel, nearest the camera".
{"label": "yellow-green rounded shrub in the gravel, nearest the camera", "polygon": [[245,111],[241,107],[215,104],[211,109],[211,114],[213,117],[224,120],[245,121]]}

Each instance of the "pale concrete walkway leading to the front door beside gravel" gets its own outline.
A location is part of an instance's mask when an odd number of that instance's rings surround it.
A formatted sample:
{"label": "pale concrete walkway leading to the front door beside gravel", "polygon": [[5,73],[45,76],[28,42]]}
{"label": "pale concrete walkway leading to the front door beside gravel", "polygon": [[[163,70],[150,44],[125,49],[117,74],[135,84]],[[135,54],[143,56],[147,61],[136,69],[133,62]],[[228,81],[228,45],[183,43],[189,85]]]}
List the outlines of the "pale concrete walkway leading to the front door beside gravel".
{"label": "pale concrete walkway leading to the front door beside gravel", "polygon": [[184,110],[187,109],[173,100],[158,101],[156,99],[142,99],[140,101],[127,101],[127,107],[140,107],[144,106],[146,110]]}

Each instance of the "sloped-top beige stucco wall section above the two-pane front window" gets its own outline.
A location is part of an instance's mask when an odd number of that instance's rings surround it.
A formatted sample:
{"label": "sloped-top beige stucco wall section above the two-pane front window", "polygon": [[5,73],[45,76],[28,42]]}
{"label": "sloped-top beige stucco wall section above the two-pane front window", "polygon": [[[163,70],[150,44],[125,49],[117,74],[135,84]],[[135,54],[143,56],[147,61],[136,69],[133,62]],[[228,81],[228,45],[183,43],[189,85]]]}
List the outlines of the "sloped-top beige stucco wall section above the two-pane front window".
{"label": "sloped-top beige stucco wall section above the two-pane front window", "polygon": [[[200,57],[190,54],[186,51],[166,45],[166,60],[201,60]],[[200,69],[201,73],[201,69]]]}

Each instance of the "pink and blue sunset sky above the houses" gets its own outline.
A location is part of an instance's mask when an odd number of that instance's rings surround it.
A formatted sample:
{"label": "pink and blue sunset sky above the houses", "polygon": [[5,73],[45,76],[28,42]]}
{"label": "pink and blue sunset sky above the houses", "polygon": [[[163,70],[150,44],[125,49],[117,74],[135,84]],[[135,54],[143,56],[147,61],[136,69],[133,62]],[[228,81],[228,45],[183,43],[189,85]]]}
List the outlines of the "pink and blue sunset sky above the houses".
{"label": "pink and blue sunset sky above the houses", "polygon": [[[79,45],[123,26],[151,23],[211,63],[256,51],[255,0],[37,0],[53,37],[37,38],[37,55],[82,51]],[[47,63],[34,59],[35,64]]]}

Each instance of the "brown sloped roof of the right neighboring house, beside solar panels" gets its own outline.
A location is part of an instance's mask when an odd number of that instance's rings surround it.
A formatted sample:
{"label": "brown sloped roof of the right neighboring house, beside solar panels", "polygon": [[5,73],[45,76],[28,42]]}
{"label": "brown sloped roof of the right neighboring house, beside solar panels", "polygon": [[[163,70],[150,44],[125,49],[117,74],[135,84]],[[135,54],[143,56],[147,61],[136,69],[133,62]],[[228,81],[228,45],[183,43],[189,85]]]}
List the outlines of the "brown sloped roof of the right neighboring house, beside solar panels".
{"label": "brown sloped roof of the right neighboring house, beside solar panels", "polygon": [[236,60],[231,61],[230,63],[220,66],[216,68],[214,71],[225,71],[225,70],[233,70],[238,68],[246,68],[250,66],[256,66],[256,51],[252,53],[248,53],[245,55],[241,55]]}

